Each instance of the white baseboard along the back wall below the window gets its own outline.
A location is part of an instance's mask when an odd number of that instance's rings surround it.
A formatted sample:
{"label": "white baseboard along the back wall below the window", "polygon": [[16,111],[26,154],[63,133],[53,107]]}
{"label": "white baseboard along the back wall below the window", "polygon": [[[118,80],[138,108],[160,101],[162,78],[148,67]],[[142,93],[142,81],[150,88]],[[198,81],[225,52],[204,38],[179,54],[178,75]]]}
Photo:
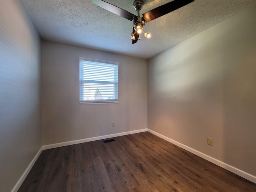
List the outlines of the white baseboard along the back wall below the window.
{"label": "white baseboard along the back wall below the window", "polygon": [[134,131],[115,133],[115,134],[110,134],[110,135],[104,135],[104,136],[98,136],[98,137],[92,137],[92,138],[86,138],[86,139],[80,139],[80,140],[74,140],[74,141],[44,145],[44,146],[42,146],[42,148],[43,148],[43,150],[52,149],[52,148],[56,148],[56,147],[63,147],[63,146],[68,146],[68,145],[74,145],[74,144],[96,141],[96,140],[101,140],[101,139],[107,139],[107,138],[112,138],[112,137],[118,137],[118,136],[123,136],[123,135],[129,135],[129,134],[134,134],[134,133],[146,132],[147,130],[148,129],[140,129],[140,130],[134,130]]}

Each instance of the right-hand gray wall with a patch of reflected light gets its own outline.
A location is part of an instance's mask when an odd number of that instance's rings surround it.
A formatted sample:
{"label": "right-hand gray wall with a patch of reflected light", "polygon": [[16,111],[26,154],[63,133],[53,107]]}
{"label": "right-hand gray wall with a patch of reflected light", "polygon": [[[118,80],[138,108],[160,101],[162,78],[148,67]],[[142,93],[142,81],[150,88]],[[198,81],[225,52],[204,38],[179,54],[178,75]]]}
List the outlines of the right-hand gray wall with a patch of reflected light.
{"label": "right-hand gray wall with a patch of reflected light", "polygon": [[148,61],[148,128],[256,175],[256,6]]}

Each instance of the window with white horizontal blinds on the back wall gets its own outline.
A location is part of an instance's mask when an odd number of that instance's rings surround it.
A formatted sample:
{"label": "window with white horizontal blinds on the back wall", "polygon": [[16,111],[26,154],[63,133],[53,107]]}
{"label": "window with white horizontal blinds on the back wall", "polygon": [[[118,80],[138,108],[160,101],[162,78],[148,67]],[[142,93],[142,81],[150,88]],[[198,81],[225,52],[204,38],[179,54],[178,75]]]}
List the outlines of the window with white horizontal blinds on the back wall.
{"label": "window with white horizontal blinds on the back wall", "polygon": [[117,103],[119,63],[81,57],[79,63],[79,103]]}

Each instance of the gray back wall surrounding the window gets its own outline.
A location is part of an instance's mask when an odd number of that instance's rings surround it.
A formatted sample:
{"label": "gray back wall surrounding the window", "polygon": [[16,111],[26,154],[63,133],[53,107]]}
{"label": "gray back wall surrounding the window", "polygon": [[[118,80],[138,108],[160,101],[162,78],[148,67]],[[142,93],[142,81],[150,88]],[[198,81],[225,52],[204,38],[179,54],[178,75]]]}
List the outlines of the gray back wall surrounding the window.
{"label": "gray back wall surrounding the window", "polygon": [[[79,105],[78,57],[120,62],[118,104]],[[147,128],[147,61],[43,40],[42,127],[44,145]]]}

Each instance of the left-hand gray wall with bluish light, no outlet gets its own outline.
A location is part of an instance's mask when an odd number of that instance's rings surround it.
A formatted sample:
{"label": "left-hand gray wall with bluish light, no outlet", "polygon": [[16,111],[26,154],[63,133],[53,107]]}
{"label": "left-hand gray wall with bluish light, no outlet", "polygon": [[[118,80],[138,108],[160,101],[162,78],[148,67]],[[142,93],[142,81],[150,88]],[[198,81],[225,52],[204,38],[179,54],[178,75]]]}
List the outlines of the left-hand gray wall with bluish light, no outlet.
{"label": "left-hand gray wall with bluish light, no outlet", "polygon": [[0,6],[0,191],[10,192],[42,146],[40,36],[20,1]]}

